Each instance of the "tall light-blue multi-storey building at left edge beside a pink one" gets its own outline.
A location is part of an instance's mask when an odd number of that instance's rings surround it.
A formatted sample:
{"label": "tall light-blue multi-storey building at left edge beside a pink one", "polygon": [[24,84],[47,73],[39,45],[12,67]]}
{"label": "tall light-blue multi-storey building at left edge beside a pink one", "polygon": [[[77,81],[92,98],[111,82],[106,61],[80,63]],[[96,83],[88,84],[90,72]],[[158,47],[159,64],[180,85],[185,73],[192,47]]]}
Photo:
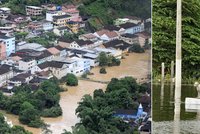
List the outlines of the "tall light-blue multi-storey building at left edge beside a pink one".
{"label": "tall light-blue multi-storey building at left edge beside a pink one", "polygon": [[15,37],[0,35],[0,40],[6,45],[6,56],[15,53]]}

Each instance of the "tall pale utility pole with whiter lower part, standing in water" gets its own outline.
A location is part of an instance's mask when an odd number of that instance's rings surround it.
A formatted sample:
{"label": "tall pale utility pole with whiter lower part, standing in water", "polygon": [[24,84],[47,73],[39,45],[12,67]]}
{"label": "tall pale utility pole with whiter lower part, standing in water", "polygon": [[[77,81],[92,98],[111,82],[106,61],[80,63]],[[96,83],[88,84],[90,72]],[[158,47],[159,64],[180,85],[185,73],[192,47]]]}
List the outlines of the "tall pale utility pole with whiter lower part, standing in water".
{"label": "tall pale utility pole with whiter lower part, standing in water", "polygon": [[181,13],[181,0],[177,0],[177,15],[176,15],[176,81],[175,81],[175,100],[181,99],[181,40],[182,40],[182,13]]}

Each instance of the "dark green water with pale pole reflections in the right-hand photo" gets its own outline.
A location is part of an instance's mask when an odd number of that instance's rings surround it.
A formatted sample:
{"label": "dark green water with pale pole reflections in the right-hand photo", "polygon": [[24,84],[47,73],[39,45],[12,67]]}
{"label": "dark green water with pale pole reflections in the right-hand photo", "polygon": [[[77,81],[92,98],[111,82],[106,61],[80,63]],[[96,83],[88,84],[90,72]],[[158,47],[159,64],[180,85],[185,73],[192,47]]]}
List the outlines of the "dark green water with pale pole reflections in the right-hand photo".
{"label": "dark green water with pale pole reflections in the right-hand photo", "polygon": [[174,90],[172,85],[153,85],[153,133],[199,134],[200,112],[186,111],[184,103],[197,96],[195,87],[182,86],[181,100],[175,101]]}

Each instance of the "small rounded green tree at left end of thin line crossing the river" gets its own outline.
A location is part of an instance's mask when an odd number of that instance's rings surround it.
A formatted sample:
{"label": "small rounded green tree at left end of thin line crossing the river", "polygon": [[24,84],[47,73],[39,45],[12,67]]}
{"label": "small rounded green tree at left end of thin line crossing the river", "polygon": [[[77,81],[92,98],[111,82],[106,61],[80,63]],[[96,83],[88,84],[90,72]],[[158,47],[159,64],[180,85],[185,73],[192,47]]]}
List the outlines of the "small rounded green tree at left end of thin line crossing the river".
{"label": "small rounded green tree at left end of thin line crossing the river", "polygon": [[72,73],[62,77],[60,81],[65,82],[68,86],[78,86],[78,78]]}

